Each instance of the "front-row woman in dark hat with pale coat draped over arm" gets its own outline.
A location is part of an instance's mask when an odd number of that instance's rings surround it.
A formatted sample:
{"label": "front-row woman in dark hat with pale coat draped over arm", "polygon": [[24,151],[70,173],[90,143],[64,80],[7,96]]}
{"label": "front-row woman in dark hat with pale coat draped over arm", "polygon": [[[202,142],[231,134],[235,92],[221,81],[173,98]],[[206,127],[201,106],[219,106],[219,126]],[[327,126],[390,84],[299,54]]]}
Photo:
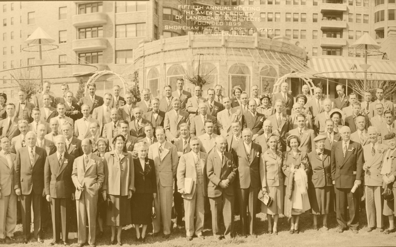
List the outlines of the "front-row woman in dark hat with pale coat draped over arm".
{"label": "front-row woman in dark hat with pale coat draped over arm", "polygon": [[299,215],[311,208],[307,194],[309,165],[306,152],[298,150],[300,138],[289,135],[286,142],[291,150],[283,152],[282,158],[282,170],[286,175],[284,214],[291,219],[290,234],[298,234]]}

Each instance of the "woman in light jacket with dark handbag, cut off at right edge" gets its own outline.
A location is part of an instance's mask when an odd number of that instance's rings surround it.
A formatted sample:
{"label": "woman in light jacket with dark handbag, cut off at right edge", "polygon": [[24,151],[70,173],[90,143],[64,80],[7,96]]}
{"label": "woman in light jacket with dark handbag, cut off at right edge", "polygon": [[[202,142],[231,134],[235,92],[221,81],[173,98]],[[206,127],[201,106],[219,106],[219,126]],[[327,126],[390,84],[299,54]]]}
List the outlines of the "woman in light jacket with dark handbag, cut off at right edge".
{"label": "woman in light jacket with dark handbag, cut off at right edge", "polygon": [[[396,195],[396,134],[389,133],[384,136],[384,140],[386,144],[389,146],[389,149],[385,152],[384,160],[381,168],[381,175],[383,182],[383,188],[389,188],[393,190],[394,196]],[[396,200],[386,201],[384,200],[384,209],[382,214],[388,216],[389,219],[389,229],[385,230],[385,234],[390,234],[396,231],[394,226],[394,215],[395,215],[395,206]]]}

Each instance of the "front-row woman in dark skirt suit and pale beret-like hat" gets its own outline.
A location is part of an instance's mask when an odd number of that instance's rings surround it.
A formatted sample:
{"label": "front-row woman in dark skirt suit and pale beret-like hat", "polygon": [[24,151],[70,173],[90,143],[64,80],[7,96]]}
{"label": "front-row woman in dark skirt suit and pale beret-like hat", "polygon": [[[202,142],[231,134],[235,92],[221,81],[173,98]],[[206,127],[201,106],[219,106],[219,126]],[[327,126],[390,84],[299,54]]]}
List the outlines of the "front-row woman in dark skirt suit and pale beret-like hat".
{"label": "front-row woman in dark skirt suit and pale beret-like hat", "polygon": [[323,230],[327,231],[327,214],[334,211],[334,187],[331,178],[331,152],[325,149],[326,135],[313,139],[316,149],[308,154],[310,174],[309,202],[313,214],[313,229],[318,230],[318,215],[323,215]]}

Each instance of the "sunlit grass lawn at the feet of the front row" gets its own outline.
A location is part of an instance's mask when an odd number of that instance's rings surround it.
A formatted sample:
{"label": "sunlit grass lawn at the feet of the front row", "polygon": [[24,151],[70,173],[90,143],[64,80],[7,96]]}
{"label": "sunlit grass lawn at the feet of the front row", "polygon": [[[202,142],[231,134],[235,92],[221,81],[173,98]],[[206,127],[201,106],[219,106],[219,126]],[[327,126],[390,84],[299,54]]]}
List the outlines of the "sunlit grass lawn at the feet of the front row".
{"label": "sunlit grass lawn at the feet of the front row", "polygon": [[[235,218],[235,230],[239,231],[239,216]],[[321,218],[318,219],[318,223],[321,222]],[[386,220],[387,222],[387,220]],[[336,233],[337,220],[335,213],[332,213],[328,217],[328,226],[329,231],[314,231],[312,230],[312,215],[301,216],[299,222],[299,234],[289,234],[290,224],[286,217],[280,217],[278,222],[278,236],[269,235],[266,233],[267,231],[267,219],[266,215],[263,213],[257,214],[257,238],[247,237],[241,238],[236,237],[232,240],[215,240],[212,236],[211,231],[211,222],[210,220],[205,223],[205,230],[203,235],[205,236],[205,240],[199,240],[194,238],[193,241],[189,242],[185,238],[185,229],[184,228],[173,228],[173,232],[171,237],[168,240],[164,240],[162,235],[158,237],[151,237],[148,235],[148,239],[146,243],[136,243],[135,239],[135,229],[131,225],[123,228],[122,231],[122,243],[123,246],[142,246],[142,247],[207,247],[207,246],[216,246],[216,247],[232,247],[232,246],[240,246],[240,247],[263,247],[263,246],[301,246],[301,247],[319,247],[319,246],[396,246],[396,233],[385,235],[383,233],[374,230],[370,233],[367,233],[365,230],[367,229],[367,220],[366,220],[366,212],[363,209],[360,212],[360,230],[358,234],[353,234],[349,231],[345,231],[344,233]],[[319,228],[321,224],[319,223]],[[386,227],[388,228],[388,227]],[[98,230],[98,227],[97,227]],[[32,227],[33,231],[33,227]],[[150,230],[151,231],[151,230]],[[22,225],[17,225],[17,229],[15,232],[15,238],[17,239],[16,243],[9,243],[8,246],[25,246],[22,244]],[[97,239],[97,245],[103,247],[110,247],[111,231],[109,228],[105,228],[104,236],[100,239]],[[31,240],[26,247],[42,247],[49,246],[49,243],[52,242],[52,230],[48,229],[44,234],[44,245],[39,244]],[[71,247],[77,246],[77,240],[70,240],[69,243]],[[2,245],[5,246],[5,245]],[[56,246],[55,246],[56,247]]]}

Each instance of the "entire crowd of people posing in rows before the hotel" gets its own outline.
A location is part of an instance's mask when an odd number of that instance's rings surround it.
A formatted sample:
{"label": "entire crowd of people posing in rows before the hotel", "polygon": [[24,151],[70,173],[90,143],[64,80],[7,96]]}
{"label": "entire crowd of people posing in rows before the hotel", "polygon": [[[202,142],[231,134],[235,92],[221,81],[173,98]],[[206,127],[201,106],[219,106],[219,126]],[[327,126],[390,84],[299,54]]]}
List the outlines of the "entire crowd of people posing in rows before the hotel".
{"label": "entire crowd of people posing in rows before the hotel", "polygon": [[163,88],[163,98],[145,88],[134,104],[118,85],[101,97],[89,83],[78,101],[67,84],[59,97],[49,95],[50,86],[45,82],[31,102],[23,90],[16,104],[0,93],[1,242],[15,241],[19,217],[27,244],[32,215],[39,243],[43,223],[52,222],[50,245],[69,245],[74,222],[79,247],[95,247],[104,224],[112,245],[122,245],[122,227],[130,224],[136,242],[146,241],[151,224],[152,236],[162,231],[168,239],[173,208],[188,241],[204,239],[210,215],[218,239],[257,237],[259,211],[269,234],[278,234],[279,214],[290,219],[290,234],[309,213],[313,229],[327,231],[332,212],[337,232],[358,233],[363,195],[367,231],[396,232],[389,200],[396,192],[395,110],[383,88],[375,101],[367,91],[359,102],[343,85],[334,101],[319,87],[310,95],[307,85],[293,96],[286,82],[272,96],[253,85],[250,96],[236,86],[230,97],[216,85],[206,99],[199,86],[192,96],[178,79],[177,88]]}

